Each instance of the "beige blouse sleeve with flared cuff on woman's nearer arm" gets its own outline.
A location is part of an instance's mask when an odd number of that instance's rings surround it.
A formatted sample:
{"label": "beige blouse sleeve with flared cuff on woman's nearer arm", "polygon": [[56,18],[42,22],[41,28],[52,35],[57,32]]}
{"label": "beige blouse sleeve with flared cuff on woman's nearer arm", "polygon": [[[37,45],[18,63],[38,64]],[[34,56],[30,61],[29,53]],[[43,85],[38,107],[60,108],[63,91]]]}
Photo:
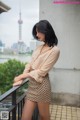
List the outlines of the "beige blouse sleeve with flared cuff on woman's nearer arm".
{"label": "beige blouse sleeve with flared cuff on woman's nearer arm", "polygon": [[53,67],[53,65],[58,60],[59,54],[60,54],[60,50],[59,49],[53,50],[50,53],[50,55],[48,56],[48,58],[45,61],[45,63],[39,69],[35,69],[35,70],[29,72],[29,75],[34,80],[36,80],[37,82],[41,83],[43,81],[43,78],[47,75],[49,70]]}

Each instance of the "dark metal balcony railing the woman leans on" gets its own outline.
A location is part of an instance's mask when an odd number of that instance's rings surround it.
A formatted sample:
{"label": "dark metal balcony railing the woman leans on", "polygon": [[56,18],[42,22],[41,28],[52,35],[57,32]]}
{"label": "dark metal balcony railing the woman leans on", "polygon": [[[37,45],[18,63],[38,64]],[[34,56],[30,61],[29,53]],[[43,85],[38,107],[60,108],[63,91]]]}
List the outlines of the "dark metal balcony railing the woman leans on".
{"label": "dark metal balcony railing the woman leans on", "polygon": [[[25,92],[17,97],[17,90],[19,90],[24,84],[27,84],[28,80],[25,80],[22,85],[12,87],[9,91],[0,96],[0,103],[4,105],[4,101],[11,103],[9,107],[0,108],[0,120],[21,120],[22,109],[25,102]],[[8,100],[7,100],[8,99]],[[8,102],[7,104],[8,105]],[[26,113],[27,114],[27,113]],[[38,120],[38,109],[34,110],[32,120]]]}

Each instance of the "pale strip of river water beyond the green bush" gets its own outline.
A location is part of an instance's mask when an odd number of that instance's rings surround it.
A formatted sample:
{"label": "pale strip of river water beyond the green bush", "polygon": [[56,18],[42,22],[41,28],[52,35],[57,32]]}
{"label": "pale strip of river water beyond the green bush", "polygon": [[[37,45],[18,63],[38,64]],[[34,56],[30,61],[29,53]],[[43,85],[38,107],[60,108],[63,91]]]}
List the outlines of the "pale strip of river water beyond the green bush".
{"label": "pale strip of river water beyond the green bush", "polygon": [[9,59],[16,59],[23,63],[29,62],[31,60],[31,55],[3,55],[0,54],[0,63],[7,62]]}

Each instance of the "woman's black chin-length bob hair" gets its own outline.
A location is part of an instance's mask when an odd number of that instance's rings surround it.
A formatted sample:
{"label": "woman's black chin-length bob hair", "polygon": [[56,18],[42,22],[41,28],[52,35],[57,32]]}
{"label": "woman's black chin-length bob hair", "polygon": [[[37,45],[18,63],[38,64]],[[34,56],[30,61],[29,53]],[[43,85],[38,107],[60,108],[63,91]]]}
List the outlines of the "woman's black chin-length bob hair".
{"label": "woman's black chin-length bob hair", "polygon": [[47,20],[41,20],[38,23],[36,23],[33,27],[32,34],[35,39],[38,40],[38,37],[36,36],[36,28],[38,32],[41,32],[45,34],[45,44],[47,44],[49,47],[57,45],[58,39],[55,35],[55,32],[51,26],[51,24]]}

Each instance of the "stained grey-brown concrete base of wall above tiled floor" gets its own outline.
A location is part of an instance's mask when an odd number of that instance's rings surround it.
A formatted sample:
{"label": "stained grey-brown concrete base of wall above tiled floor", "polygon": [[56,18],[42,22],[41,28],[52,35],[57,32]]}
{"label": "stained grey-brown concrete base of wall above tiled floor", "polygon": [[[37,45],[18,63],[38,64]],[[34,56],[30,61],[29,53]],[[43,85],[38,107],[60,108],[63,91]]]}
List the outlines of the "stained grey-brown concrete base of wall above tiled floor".
{"label": "stained grey-brown concrete base of wall above tiled floor", "polygon": [[80,107],[80,95],[70,93],[52,93],[52,102],[60,105]]}

